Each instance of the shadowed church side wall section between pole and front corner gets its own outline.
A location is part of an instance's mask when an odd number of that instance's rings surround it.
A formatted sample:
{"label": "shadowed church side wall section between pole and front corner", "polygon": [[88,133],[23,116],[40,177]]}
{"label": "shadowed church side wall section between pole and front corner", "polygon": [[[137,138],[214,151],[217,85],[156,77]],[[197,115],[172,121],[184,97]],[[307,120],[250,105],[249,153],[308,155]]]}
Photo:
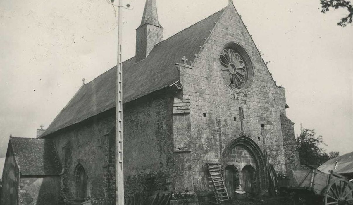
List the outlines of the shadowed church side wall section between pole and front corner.
{"label": "shadowed church side wall section between pole and front corner", "polygon": [[173,191],[174,90],[162,89],[124,104],[125,192]]}

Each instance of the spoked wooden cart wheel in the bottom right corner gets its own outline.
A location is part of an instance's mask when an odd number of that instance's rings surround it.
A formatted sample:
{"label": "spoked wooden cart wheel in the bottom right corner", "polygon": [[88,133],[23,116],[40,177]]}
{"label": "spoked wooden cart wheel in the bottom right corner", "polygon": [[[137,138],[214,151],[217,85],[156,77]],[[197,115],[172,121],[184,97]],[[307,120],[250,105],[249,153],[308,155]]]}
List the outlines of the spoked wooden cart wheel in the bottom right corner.
{"label": "spoked wooden cart wheel in the bottom right corner", "polygon": [[351,205],[353,204],[353,187],[345,179],[332,181],[324,192],[324,205]]}

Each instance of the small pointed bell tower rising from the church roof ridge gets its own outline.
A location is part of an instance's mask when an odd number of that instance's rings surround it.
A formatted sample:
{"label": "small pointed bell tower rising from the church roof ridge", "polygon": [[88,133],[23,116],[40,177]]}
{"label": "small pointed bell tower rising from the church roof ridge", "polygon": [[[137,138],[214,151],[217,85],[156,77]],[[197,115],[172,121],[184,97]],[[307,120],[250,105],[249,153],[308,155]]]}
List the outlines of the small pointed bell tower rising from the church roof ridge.
{"label": "small pointed bell tower rising from the church roof ridge", "polygon": [[152,48],[163,41],[163,27],[158,22],[156,0],[146,0],[140,26],[136,29],[136,62],[145,59]]}

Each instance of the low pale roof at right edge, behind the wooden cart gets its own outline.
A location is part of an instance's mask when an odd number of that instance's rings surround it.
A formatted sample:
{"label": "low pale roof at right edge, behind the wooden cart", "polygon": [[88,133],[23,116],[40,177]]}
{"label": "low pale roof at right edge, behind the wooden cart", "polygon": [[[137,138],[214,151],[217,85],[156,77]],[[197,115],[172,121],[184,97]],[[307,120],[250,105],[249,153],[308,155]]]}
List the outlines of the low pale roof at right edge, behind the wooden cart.
{"label": "low pale roof at right edge, behind the wooden cart", "polygon": [[[336,162],[337,167],[335,169]],[[329,173],[330,170],[333,170],[338,174],[353,173],[353,152],[330,159],[319,166],[317,169],[325,173]]]}

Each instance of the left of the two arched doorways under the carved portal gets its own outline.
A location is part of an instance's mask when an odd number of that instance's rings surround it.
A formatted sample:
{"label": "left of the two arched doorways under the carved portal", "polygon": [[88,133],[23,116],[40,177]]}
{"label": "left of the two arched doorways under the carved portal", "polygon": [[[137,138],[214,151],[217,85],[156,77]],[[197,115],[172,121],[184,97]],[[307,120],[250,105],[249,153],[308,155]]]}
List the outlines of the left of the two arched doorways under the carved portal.
{"label": "left of the two arched doorways under the carved portal", "polygon": [[239,171],[234,165],[226,166],[225,180],[229,196],[234,197],[235,190],[239,187]]}

